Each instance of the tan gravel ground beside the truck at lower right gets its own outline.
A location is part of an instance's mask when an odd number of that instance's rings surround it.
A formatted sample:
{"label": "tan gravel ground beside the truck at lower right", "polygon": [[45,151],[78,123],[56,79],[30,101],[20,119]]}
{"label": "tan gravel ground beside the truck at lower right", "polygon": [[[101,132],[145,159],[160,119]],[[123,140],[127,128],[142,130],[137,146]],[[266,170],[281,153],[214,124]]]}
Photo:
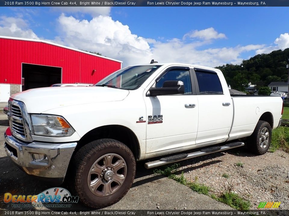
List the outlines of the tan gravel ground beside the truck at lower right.
{"label": "tan gravel ground beside the truck at lower right", "polygon": [[260,202],[277,201],[280,209],[289,209],[288,160],[289,154],[281,150],[256,156],[244,147],[181,162],[179,171],[187,180],[211,187],[216,195],[231,187],[251,202],[251,209]]}

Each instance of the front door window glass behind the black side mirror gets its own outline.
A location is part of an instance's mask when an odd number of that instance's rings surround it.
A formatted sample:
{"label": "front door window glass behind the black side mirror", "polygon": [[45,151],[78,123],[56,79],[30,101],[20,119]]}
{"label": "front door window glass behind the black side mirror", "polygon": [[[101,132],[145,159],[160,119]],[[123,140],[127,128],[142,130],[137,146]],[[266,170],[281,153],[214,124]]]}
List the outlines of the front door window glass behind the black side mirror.
{"label": "front door window glass behind the black side mirror", "polygon": [[189,70],[170,70],[156,84],[156,88],[163,87],[165,81],[180,80],[185,87],[185,95],[192,94],[191,76]]}

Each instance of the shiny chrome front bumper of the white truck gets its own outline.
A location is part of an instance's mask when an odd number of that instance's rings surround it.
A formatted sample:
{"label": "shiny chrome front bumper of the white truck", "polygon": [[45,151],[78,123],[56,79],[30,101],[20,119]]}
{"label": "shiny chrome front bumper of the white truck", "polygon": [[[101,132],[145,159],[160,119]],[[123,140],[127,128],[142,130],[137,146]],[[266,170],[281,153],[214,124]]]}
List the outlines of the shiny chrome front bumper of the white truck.
{"label": "shiny chrome front bumper of the white truck", "polygon": [[[4,133],[4,137],[6,154],[25,173],[44,177],[57,184],[63,182],[76,142],[25,143],[14,138],[10,128]],[[46,159],[39,161],[36,155],[46,155]]]}

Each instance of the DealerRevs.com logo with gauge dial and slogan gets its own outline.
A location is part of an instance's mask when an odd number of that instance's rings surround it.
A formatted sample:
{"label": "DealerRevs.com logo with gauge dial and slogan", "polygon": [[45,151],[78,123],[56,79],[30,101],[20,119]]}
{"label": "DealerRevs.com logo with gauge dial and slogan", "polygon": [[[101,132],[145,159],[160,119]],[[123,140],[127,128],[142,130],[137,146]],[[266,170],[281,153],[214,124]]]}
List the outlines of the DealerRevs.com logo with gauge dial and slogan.
{"label": "DealerRevs.com logo with gauge dial and slogan", "polygon": [[62,187],[52,187],[48,190],[44,190],[38,195],[12,195],[11,193],[4,194],[4,202],[11,202],[13,208],[70,208],[70,203],[77,203],[78,199],[78,196],[71,196],[70,192]]}

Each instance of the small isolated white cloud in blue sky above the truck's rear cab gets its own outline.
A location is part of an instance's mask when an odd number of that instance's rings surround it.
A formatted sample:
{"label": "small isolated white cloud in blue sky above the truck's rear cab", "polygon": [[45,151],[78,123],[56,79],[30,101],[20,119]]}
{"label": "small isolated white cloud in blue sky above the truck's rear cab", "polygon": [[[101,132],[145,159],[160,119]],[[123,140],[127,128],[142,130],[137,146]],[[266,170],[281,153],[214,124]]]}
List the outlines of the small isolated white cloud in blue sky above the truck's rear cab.
{"label": "small isolated white cloud in blue sky above the truck's rear cab", "polygon": [[184,35],[185,38],[200,38],[202,40],[222,39],[226,38],[223,33],[218,33],[213,27],[204,30],[194,30]]}

